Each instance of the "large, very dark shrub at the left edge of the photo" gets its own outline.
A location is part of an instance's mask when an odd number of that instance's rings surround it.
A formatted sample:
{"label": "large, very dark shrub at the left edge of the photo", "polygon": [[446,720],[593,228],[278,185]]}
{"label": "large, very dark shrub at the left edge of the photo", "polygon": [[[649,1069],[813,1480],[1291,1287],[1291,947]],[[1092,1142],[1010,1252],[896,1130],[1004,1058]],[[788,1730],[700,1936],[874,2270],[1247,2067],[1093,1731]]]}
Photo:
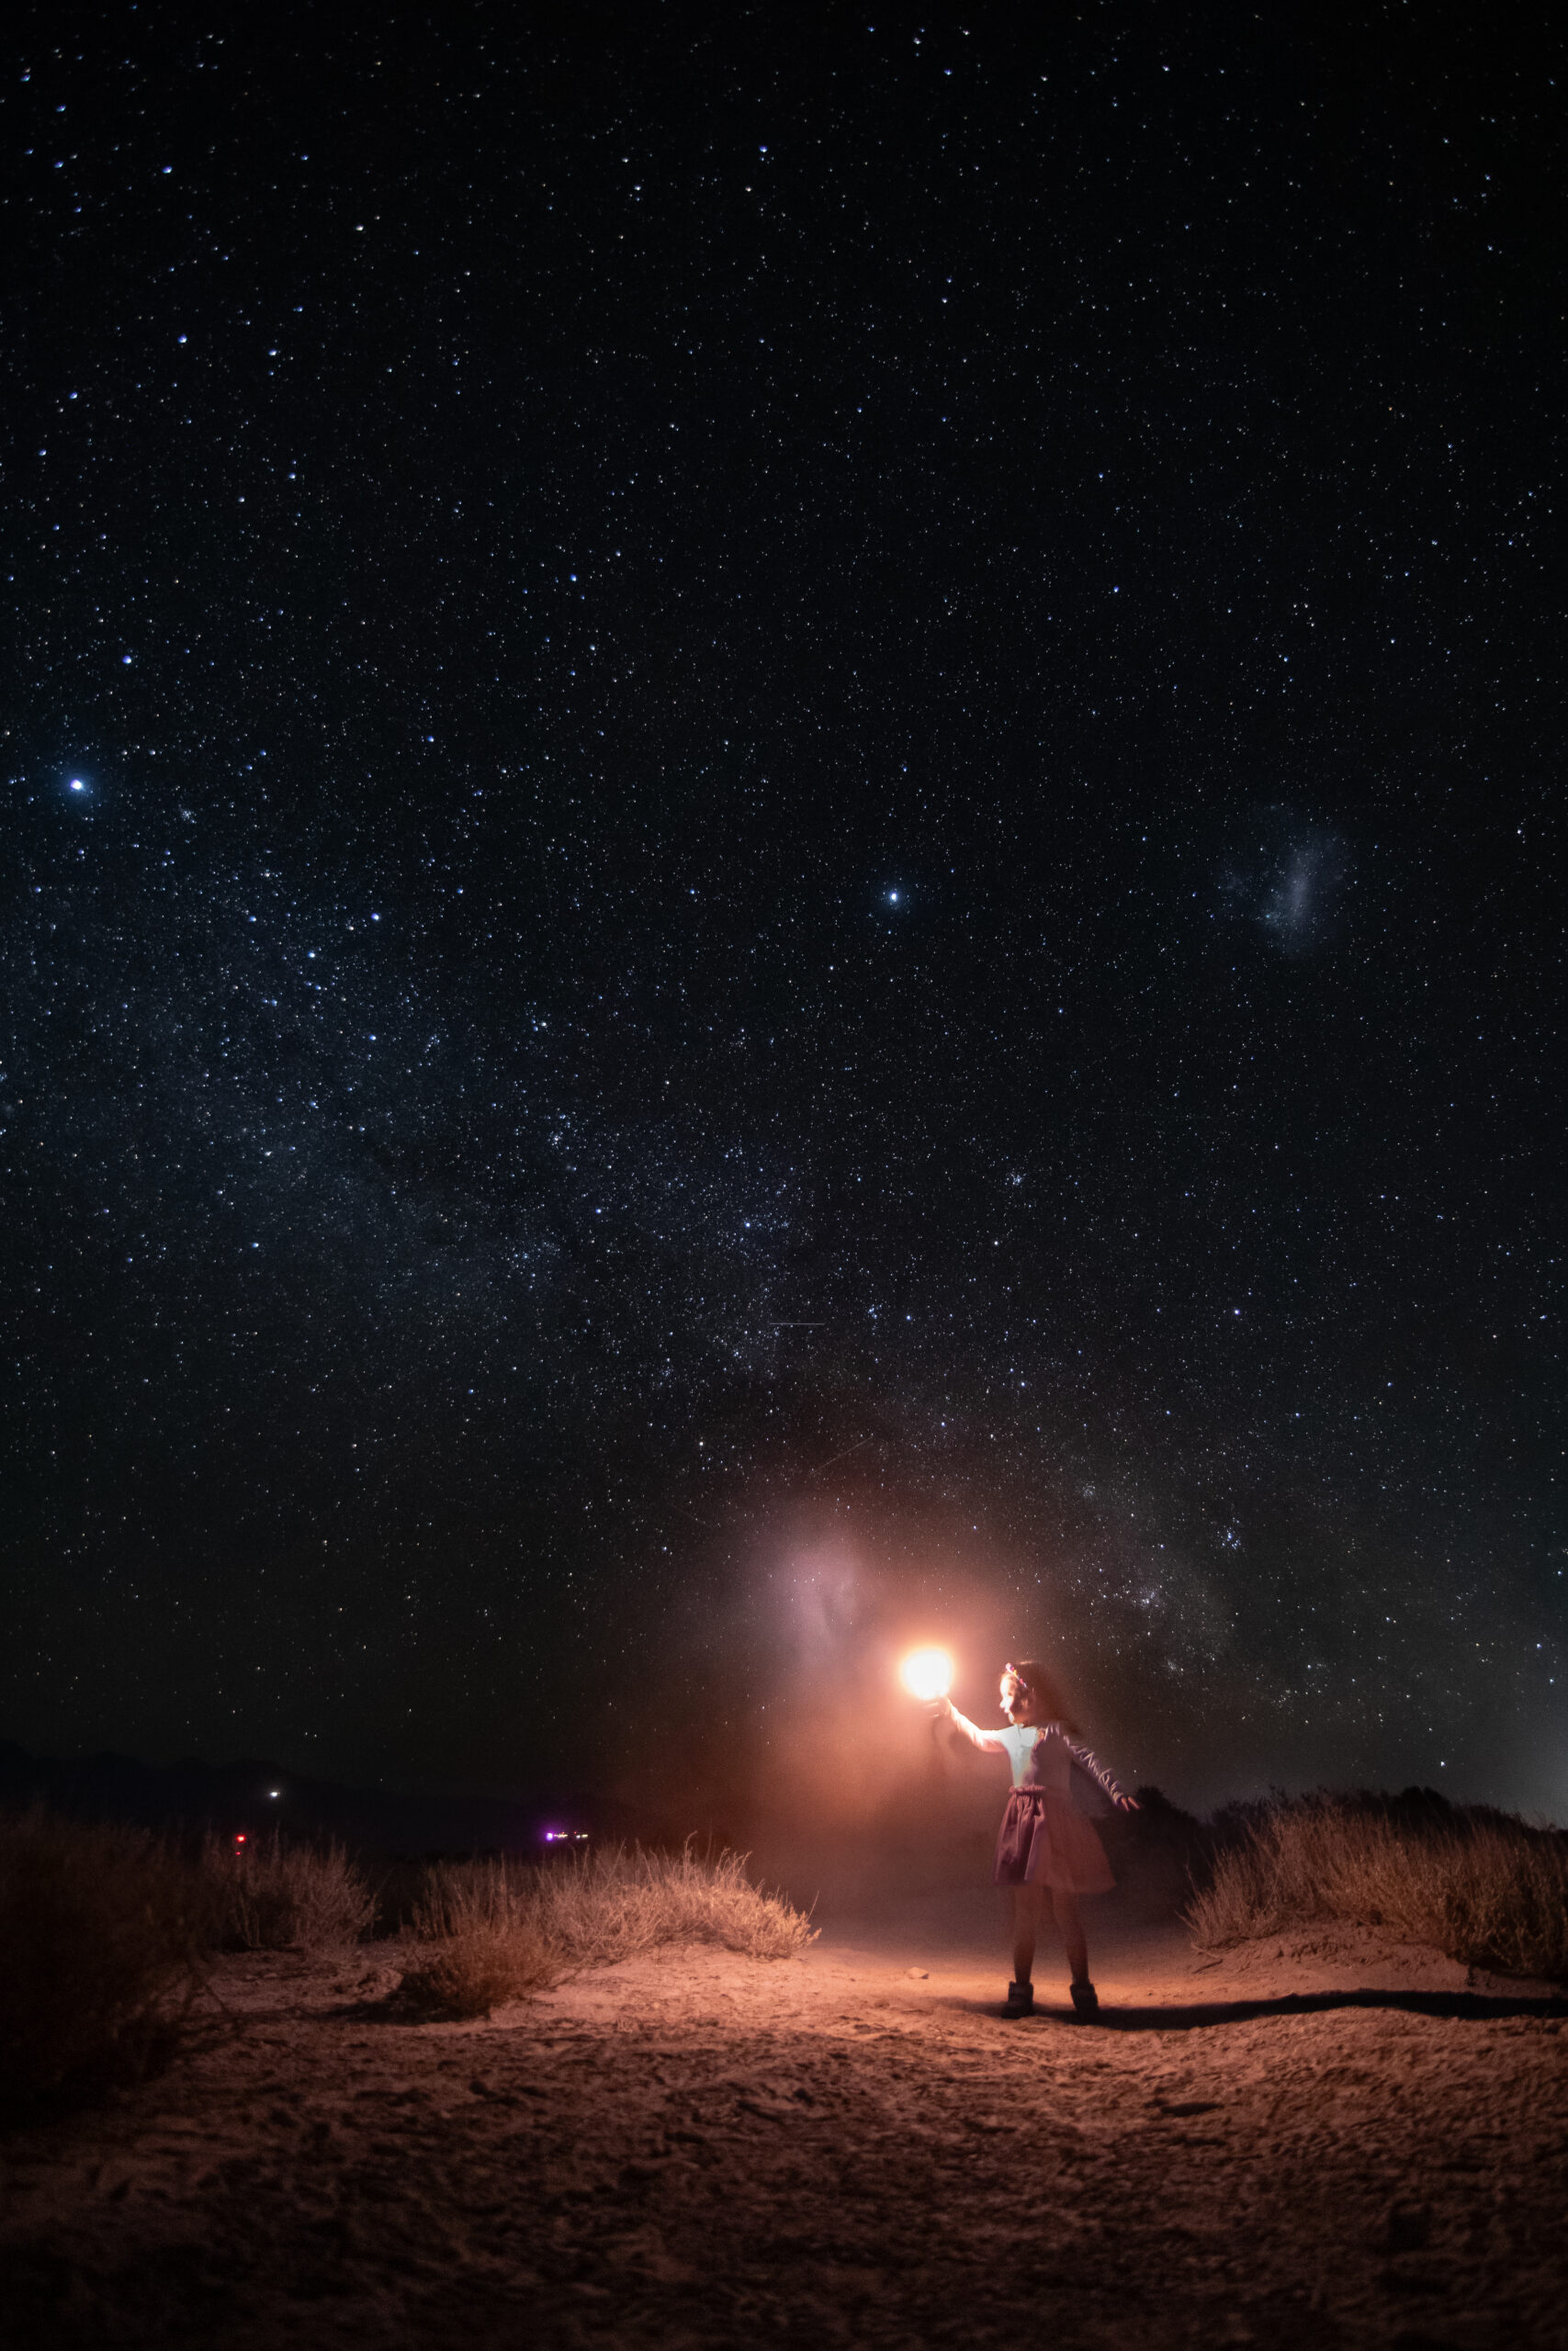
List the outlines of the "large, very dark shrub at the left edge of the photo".
{"label": "large, very dark shrub at the left edge of the photo", "polygon": [[202,1874],[146,1829],[0,1820],[0,2095],[136,2078],[202,1989]]}

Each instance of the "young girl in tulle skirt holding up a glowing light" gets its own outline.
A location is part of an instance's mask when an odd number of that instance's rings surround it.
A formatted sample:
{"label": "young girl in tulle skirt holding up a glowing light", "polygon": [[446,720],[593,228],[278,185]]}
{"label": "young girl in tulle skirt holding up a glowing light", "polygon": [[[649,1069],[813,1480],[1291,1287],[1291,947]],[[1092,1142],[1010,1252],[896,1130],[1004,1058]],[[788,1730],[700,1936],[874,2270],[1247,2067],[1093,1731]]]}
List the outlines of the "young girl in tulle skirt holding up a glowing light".
{"label": "young girl in tulle skirt holding up a glowing light", "polygon": [[1079,1918],[1079,1895],[1103,1895],[1117,1883],[1105,1860],[1105,1846],[1067,1796],[1067,1770],[1081,1763],[1100,1782],[1119,1813],[1138,1806],[1121,1791],[1112,1773],[1079,1744],[1077,1723],[1063,1704],[1056,1681],[1034,1657],[1001,1672],[1001,1712],[1006,1730],[980,1730],[959,1714],[950,1697],[938,1714],[971,1740],[980,1754],[1006,1756],[1013,1766],[1013,1794],[997,1836],[997,1886],[1013,1888],[1013,1982],[1006,1987],[1011,2015],[1027,2017],[1034,2008],[1034,1935],[1046,1893],[1067,1947],[1072,1968],[1072,2005],[1088,2015],[1100,2005],[1088,1982],[1088,1944]]}

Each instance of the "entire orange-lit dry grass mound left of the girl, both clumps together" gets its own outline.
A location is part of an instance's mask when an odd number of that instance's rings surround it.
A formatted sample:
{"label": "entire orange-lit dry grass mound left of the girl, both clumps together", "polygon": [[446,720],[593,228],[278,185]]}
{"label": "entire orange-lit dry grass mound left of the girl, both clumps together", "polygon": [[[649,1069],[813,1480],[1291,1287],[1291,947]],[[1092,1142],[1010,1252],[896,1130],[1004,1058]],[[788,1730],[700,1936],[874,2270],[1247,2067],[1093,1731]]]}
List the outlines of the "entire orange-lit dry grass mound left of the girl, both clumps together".
{"label": "entire orange-lit dry grass mound left of the girl, both clumps together", "polygon": [[783,1895],[752,1886],[745,1860],[616,1846],[548,1869],[444,1862],[414,1909],[421,1956],[400,1998],[480,2017],[527,1998],[567,1968],[607,1968],[656,1944],[719,1942],[748,1958],[790,1958],[813,1940]]}

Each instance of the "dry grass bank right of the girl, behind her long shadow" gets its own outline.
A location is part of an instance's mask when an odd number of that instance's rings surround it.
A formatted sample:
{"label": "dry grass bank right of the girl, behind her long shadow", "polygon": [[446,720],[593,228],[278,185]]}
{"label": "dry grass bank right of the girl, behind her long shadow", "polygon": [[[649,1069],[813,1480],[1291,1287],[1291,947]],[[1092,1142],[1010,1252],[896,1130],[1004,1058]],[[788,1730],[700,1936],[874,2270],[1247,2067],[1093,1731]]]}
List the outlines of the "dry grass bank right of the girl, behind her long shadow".
{"label": "dry grass bank right of the girl, behind her long shadow", "polygon": [[1568,1836],[1507,1813],[1302,1796],[1258,1808],[1187,1911],[1208,1947],[1309,1918],[1387,1928],[1474,1968],[1568,1980]]}

